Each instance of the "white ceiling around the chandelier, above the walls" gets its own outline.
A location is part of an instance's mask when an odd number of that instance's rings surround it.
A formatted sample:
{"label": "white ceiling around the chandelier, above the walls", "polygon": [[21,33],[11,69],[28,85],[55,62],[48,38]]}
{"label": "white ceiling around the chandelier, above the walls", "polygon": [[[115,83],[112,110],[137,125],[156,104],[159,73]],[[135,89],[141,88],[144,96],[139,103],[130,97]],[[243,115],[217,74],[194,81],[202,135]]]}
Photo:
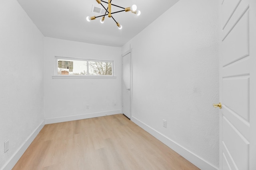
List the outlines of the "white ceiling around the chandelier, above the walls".
{"label": "white ceiling around the chandelier, above the walls", "polygon": [[[106,17],[86,21],[92,13],[92,4],[101,6],[96,0],[17,0],[35,25],[46,37],[121,47],[137,35],[152,21],[173,6],[178,0],[112,0],[112,4],[123,8],[136,4],[140,16],[131,12],[120,12],[112,16],[122,25],[118,29],[112,18]],[[108,2],[108,0],[104,0]],[[107,4],[102,2],[107,7]],[[112,7],[112,12],[122,10]]]}

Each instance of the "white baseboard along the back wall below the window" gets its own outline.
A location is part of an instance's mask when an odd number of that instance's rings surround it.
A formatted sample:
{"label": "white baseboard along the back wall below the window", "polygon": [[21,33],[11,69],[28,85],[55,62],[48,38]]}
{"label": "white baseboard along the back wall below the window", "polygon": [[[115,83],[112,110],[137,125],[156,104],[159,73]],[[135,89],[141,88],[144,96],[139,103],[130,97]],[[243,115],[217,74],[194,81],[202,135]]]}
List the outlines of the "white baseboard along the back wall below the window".
{"label": "white baseboard along the back wall below the window", "polygon": [[45,124],[60,123],[60,122],[74,121],[74,120],[80,120],[80,119],[89,119],[93,117],[100,117],[100,116],[106,116],[106,115],[116,115],[120,113],[122,113],[121,110],[111,110],[111,111],[103,111],[103,112],[89,113],[89,114],[83,114],[83,115],[55,117],[55,118],[45,119]]}

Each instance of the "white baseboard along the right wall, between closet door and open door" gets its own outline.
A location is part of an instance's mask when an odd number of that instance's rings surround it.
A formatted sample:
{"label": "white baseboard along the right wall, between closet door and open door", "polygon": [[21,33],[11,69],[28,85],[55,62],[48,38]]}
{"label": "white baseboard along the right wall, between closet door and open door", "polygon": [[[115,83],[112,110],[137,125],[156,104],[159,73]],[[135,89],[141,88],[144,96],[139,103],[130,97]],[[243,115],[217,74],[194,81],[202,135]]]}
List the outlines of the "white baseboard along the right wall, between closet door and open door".
{"label": "white baseboard along the right wall, between closet door and open door", "polygon": [[132,116],[131,121],[136,123],[142,129],[144,129],[145,131],[147,131],[148,133],[156,137],[156,139],[164,143],[166,146],[170,147],[172,150],[174,150],[175,152],[183,156],[186,160],[188,160],[189,162],[191,162],[201,170],[218,170],[219,169],[216,166],[213,166],[212,164],[207,162],[206,160],[200,158],[196,154],[192,153],[190,150],[172,141],[172,139],[169,139],[168,137],[156,131],[152,127],[149,127],[148,125],[146,125],[145,123],[137,119],[136,117]]}

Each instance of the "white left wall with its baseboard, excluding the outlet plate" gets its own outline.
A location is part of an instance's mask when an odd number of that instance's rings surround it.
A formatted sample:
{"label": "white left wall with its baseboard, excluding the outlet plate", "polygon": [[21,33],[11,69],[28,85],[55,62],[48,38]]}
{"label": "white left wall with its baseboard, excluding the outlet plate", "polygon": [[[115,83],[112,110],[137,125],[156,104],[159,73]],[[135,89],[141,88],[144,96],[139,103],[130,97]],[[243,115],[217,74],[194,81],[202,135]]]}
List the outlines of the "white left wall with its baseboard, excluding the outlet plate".
{"label": "white left wall with its baseboard, excluding the outlet plate", "polygon": [[0,169],[11,169],[44,125],[43,53],[44,37],[26,12],[16,0],[1,0]]}

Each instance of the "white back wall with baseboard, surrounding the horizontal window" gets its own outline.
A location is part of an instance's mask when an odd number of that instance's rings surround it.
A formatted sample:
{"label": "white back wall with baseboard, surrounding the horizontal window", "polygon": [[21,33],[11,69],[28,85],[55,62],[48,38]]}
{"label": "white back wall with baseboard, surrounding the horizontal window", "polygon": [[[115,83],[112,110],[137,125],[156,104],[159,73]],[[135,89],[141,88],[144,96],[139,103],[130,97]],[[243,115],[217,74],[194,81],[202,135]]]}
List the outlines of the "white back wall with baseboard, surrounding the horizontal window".
{"label": "white back wall with baseboard, surrounding the horizontal window", "polygon": [[[55,56],[114,60],[116,79],[53,79]],[[46,123],[121,113],[120,56],[120,47],[45,37],[44,103]],[[86,105],[89,105],[90,108],[86,109]]]}

